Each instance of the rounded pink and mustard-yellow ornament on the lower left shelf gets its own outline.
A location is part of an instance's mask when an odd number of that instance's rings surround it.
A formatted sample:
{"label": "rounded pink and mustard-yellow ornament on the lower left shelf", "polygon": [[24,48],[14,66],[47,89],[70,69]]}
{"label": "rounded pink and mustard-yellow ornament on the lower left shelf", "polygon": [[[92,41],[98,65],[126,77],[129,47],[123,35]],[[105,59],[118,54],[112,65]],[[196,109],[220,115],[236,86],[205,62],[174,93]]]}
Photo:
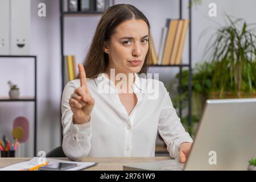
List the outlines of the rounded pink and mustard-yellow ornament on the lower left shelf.
{"label": "rounded pink and mustard-yellow ornament on the lower left shelf", "polygon": [[19,143],[24,143],[29,137],[29,123],[27,118],[18,117],[13,123],[13,137],[17,138]]}

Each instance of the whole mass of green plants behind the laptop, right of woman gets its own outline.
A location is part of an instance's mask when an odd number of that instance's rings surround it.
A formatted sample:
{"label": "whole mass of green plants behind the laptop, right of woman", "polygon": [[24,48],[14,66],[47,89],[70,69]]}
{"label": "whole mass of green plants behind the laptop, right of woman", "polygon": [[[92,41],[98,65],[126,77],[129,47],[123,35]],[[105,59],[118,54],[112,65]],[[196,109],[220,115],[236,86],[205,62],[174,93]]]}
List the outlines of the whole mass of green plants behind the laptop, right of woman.
{"label": "whole mass of green plants behind the laptop, right of woman", "polygon": [[[214,33],[216,39],[209,48],[211,61],[196,64],[191,72],[192,126],[186,126],[188,117],[181,118],[189,131],[201,118],[202,102],[211,98],[213,93],[217,93],[218,98],[224,98],[224,93],[228,92],[233,98],[241,97],[241,93],[245,97],[254,97],[256,93],[256,28],[243,19],[233,21],[228,15],[226,18],[228,24]],[[179,73],[176,78],[179,78]],[[172,98],[175,108],[188,106],[188,78],[188,69],[183,69],[178,88],[182,94]]]}

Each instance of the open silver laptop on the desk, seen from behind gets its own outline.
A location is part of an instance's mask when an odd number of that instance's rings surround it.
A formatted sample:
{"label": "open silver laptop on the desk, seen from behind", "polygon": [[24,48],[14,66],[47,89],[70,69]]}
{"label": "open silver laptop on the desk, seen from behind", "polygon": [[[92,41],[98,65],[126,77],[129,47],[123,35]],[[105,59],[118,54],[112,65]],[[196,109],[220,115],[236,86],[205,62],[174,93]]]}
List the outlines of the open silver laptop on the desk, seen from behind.
{"label": "open silver laptop on the desk, seen from behind", "polygon": [[207,100],[191,152],[179,160],[137,163],[124,170],[247,170],[256,157],[256,98]]}

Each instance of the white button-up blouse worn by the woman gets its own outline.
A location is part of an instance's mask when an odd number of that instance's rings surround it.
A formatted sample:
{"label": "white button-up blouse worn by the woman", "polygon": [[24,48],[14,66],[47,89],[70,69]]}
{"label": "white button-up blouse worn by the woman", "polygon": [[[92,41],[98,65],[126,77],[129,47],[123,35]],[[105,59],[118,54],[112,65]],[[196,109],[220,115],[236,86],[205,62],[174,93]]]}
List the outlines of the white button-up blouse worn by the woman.
{"label": "white button-up blouse worn by the woman", "polygon": [[85,157],[155,156],[157,131],[172,158],[179,158],[179,146],[193,142],[180,123],[163,82],[134,73],[133,92],[137,104],[128,115],[117,88],[105,74],[86,78],[95,104],[88,123],[72,122],[69,98],[80,80],[65,85],[61,100],[63,151],[71,160]]}

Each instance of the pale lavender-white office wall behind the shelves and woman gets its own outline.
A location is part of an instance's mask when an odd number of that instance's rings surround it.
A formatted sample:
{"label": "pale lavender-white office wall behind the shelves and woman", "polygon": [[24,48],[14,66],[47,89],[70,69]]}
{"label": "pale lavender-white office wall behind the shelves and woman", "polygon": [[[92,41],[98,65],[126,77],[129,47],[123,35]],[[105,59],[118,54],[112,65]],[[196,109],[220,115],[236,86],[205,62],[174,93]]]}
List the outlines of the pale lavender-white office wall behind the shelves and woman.
{"label": "pale lavender-white office wall behind the shelves and woman", "polygon": [[[46,17],[38,16],[38,4],[46,3]],[[183,1],[183,18],[188,17],[188,0]],[[208,16],[208,5],[214,2],[217,5],[217,17]],[[159,49],[160,32],[166,18],[179,17],[178,0],[117,0],[115,3],[131,3],[142,10],[151,23],[151,30],[156,46]],[[245,18],[248,22],[256,22],[256,1],[253,0],[203,0],[201,5],[192,7],[192,63],[202,60],[203,50],[208,43],[210,35],[201,37],[200,33],[212,22],[224,23],[225,13]],[[77,63],[81,63],[89,48],[92,35],[97,26],[100,15],[76,16],[65,18],[65,54],[75,54]],[[84,23],[81,23],[84,22]],[[184,63],[188,61],[188,45],[184,49]],[[38,150],[49,151],[60,144],[60,99],[61,99],[61,67],[60,67],[60,20],[59,0],[33,0],[31,1],[31,54],[38,56]],[[31,61],[32,63],[32,61]],[[14,69],[14,68],[18,68]],[[27,71],[28,70],[28,71]],[[179,70],[176,68],[150,68],[150,72],[161,72],[160,80],[166,84]],[[20,86],[23,95],[31,96],[33,90],[33,66],[30,61],[0,60],[0,96],[7,96],[9,86],[7,80],[11,78]],[[176,92],[171,92],[171,97]],[[25,115],[32,121],[32,104],[6,104],[0,103],[0,134],[9,134],[14,115]],[[32,125],[32,124],[31,124]],[[32,133],[31,133],[32,135]],[[24,156],[32,156],[32,140],[24,146]]]}

